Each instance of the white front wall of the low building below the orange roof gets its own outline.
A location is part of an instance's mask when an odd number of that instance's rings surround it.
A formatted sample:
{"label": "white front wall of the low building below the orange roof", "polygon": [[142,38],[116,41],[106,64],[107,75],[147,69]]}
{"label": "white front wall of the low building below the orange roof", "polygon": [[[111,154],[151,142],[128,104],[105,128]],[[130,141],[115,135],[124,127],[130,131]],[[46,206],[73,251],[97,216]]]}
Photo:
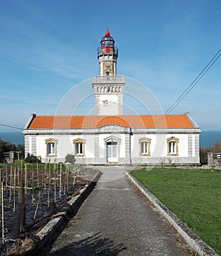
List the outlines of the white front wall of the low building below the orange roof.
{"label": "white front wall of the low building below the orange roof", "polygon": [[[98,131],[99,130],[99,131]],[[49,158],[46,158],[46,139],[57,139],[57,162],[64,162],[65,156],[68,153],[74,153],[74,144],[73,140],[77,138],[85,139],[85,156],[76,156],[77,162],[82,162],[83,159],[85,163],[94,164],[105,164],[105,140],[108,137],[113,136],[113,139],[116,139],[119,142],[119,163],[130,164],[130,159],[127,153],[125,156],[125,138],[126,135],[129,136],[129,133],[125,128],[118,127],[117,125],[107,125],[105,127],[99,128],[97,131],[98,137],[98,151],[99,157],[95,160],[95,135],[93,131],[90,130],[87,134],[76,134],[69,135],[68,132],[60,135],[26,135],[29,137],[29,142],[26,144],[26,152],[33,153],[32,138],[36,138],[36,156],[41,156],[43,162],[48,161]],[[94,130],[95,131],[95,130]],[[119,133],[118,133],[119,131]],[[185,129],[183,129],[185,131]],[[180,133],[171,133],[171,134],[138,134],[138,129],[136,133],[133,133],[131,136],[131,157],[133,163],[152,163],[158,162],[159,159],[166,159],[169,161],[170,156],[167,156],[167,144],[166,139],[170,137],[175,137],[179,139],[178,142],[178,156],[172,156],[172,161],[177,163],[199,163],[199,134],[191,134],[190,132],[185,134],[183,131]],[[73,131],[72,131],[73,132]],[[79,131],[78,131],[79,132]],[[168,132],[168,131],[167,131]],[[40,133],[40,132],[39,132]],[[191,136],[189,136],[191,134]],[[139,139],[148,138],[151,139],[150,144],[150,156],[141,156],[140,155],[140,145]],[[192,138],[189,139],[188,138]],[[190,145],[191,144],[191,145]],[[127,144],[128,145],[128,144]],[[191,150],[189,149],[190,147]],[[33,150],[34,151],[34,150]]]}

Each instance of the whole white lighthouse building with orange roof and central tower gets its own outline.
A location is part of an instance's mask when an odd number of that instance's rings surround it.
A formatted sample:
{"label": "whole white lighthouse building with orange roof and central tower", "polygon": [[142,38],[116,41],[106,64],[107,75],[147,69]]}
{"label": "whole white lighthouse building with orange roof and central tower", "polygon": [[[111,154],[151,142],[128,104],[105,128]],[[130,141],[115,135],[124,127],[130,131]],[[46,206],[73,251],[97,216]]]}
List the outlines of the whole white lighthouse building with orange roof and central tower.
{"label": "whole white lighthouse building with orange roof and central tower", "polygon": [[98,49],[100,75],[92,84],[96,115],[36,116],[24,128],[25,153],[64,162],[74,153],[88,165],[199,165],[200,128],[189,114],[123,115],[124,77],[110,32]]}

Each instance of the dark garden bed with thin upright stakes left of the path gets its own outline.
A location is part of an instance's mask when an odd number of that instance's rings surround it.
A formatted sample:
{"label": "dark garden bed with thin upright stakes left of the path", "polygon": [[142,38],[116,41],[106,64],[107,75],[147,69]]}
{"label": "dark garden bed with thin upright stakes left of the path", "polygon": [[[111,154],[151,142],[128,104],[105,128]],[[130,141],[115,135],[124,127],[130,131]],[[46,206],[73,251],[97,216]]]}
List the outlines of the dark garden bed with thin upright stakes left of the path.
{"label": "dark garden bed with thin upright stakes left of the path", "polygon": [[[43,172],[40,171],[38,175],[45,175]],[[68,179],[62,179],[62,182],[59,179],[52,180],[51,184],[33,186],[32,189],[23,187],[22,191],[17,186],[15,195],[14,190],[5,185],[4,238],[0,242],[0,255],[10,255],[10,252],[16,251],[16,247],[21,247],[24,241],[32,237],[59,212],[81,187],[88,184],[95,173],[95,170],[80,170],[74,178],[69,176]],[[33,184],[36,184],[36,176],[34,180]],[[21,193],[24,193],[24,204],[21,204]],[[24,218],[21,220],[23,211]]]}

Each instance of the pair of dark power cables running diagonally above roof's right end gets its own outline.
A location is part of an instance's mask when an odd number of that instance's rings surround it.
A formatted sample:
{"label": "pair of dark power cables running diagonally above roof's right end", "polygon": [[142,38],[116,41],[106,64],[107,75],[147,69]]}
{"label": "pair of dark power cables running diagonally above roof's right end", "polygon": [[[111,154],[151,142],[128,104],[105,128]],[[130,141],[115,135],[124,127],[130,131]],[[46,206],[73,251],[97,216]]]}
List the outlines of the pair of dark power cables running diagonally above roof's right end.
{"label": "pair of dark power cables running diagonally above roof's right end", "polygon": [[178,99],[175,100],[175,102],[166,110],[164,114],[169,114],[181,102],[181,100],[183,100],[183,98],[186,97],[187,94],[189,94],[189,91],[191,91],[194,88],[194,86],[197,85],[197,83],[200,81],[200,79],[203,78],[206,72],[208,72],[208,70],[211,69],[211,66],[213,66],[214,63],[218,60],[218,58],[220,58],[220,55],[221,55],[220,52],[221,52],[221,49],[219,49],[219,51],[208,62],[208,64],[200,72],[200,74],[197,75],[197,77],[192,81],[192,83],[187,87],[187,89],[183,91],[183,94],[181,94],[180,97],[178,97]]}

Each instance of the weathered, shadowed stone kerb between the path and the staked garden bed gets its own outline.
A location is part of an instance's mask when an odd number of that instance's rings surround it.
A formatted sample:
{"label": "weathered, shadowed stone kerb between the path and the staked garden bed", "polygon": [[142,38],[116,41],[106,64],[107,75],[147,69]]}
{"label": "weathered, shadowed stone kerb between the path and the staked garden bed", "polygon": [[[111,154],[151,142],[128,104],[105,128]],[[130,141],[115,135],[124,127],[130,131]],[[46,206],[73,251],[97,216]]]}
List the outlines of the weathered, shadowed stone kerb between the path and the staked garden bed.
{"label": "weathered, shadowed stone kerb between the path and the staked garden bed", "polygon": [[88,196],[89,193],[91,193],[94,184],[97,183],[101,175],[102,172],[99,170],[98,173],[91,180],[91,184],[85,185],[85,187],[83,187],[79,191],[77,196],[74,196],[73,198],[71,198],[70,201],[68,201],[67,204],[69,204],[69,207],[63,210],[63,212],[58,212],[57,215],[54,215],[54,217],[45,226],[43,226],[43,228],[39,232],[35,233],[36,242],[34,246],[31,246],[29,247],[29,249],[25,250],[25,252],[22,252],[22,256],[35,255],[35,251],[45,245],[46,242],[49,241],[49,239],[52,237],[52,235],[55,234],[57,229],[63,224],[63,221],[67,219],[66,217],[69,215],[69,212],[71,211],[76,214],[76,209],[79,209],[85,198]]}

